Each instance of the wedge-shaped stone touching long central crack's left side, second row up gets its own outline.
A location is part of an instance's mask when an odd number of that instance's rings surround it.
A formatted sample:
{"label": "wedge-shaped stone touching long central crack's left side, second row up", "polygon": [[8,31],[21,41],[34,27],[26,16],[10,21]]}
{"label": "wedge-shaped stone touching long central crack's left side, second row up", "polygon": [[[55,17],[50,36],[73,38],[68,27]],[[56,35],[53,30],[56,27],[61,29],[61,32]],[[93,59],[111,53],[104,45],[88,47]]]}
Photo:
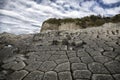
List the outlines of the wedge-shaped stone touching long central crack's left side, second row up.
{"label": "wedge-shaped stone touching long central crack's left side, second row up", "polygon": [[69,71],[69,70],[70,70],[70,63],[69,63],[69,62],[59,64],[59,65],[55,68],[55,71],[57,71],[57,72]]}

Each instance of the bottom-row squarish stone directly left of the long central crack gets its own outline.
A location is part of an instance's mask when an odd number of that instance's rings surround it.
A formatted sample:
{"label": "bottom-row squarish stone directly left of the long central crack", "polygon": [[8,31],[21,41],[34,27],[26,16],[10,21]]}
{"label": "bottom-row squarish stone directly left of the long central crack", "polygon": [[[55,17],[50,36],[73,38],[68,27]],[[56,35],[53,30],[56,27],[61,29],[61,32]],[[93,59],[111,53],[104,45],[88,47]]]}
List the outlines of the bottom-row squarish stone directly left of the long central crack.
{"label": "bottom-row squarish stone directly left of the long central crack", "polygon": [[59,80],[72,80],[70,72],[60,72],[58,73]]}

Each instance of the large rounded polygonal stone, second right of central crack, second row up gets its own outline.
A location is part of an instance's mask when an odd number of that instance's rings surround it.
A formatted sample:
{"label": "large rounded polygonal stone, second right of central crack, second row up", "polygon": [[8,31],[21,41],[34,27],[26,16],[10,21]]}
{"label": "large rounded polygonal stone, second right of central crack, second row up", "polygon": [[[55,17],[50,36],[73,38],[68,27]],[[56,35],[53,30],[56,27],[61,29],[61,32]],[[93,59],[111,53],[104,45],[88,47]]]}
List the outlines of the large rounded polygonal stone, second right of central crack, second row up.
{"label": "large rounded polygonal stone, second right of central crack, second row up", "polygon": [[88,64],[88,68],[95,74],[109,73],[102,64],[96,62]]}

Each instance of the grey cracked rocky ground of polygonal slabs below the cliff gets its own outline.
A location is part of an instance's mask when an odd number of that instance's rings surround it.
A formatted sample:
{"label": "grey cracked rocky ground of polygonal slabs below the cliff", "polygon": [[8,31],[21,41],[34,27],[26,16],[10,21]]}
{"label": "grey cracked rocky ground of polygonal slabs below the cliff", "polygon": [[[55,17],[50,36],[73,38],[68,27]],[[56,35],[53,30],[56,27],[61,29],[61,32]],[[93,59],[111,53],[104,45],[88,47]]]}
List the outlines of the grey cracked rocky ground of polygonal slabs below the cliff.
{"label": "grey cracked rocky ground of polygonal slabs below the cliff", "polygon": [[119,27],[39,33],[4,44],[0,80],[120,80]]}

